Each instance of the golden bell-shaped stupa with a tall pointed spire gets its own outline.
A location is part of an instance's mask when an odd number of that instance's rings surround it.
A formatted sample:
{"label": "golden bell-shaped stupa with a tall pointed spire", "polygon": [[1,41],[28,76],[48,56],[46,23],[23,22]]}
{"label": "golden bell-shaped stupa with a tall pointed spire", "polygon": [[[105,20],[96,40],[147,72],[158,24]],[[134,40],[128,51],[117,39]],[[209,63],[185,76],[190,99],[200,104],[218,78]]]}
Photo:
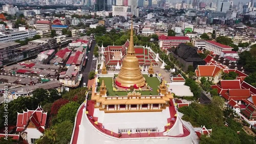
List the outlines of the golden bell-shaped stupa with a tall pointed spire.
{"label": "golden bell-shaped stupa with a tall pointed spire", "polygon": [[135,55],[133,42],[133,22],[131,26],[130,44],[127,54],[122,62],[122,67],[116,78],[116,85],[120,87],[134,88],[143,87],[145,85],[145,78],[141,74],[139,59]]}

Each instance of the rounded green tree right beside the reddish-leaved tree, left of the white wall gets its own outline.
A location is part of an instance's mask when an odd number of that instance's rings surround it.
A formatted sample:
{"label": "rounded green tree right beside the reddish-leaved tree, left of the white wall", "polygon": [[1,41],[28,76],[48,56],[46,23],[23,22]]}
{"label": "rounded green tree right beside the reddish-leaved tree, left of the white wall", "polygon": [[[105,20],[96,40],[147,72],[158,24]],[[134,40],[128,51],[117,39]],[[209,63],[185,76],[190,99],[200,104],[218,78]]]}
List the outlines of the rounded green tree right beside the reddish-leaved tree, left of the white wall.
{"label": "rounded green tree right beside the reddish-leaved tree, left of the white wall", "polygon": [[57,114],[58,122],[61,123],[64,121],[70,121],[74,123],[76,112],[79,106],[80,105],[77,102],[70,102],[60,107]]}

